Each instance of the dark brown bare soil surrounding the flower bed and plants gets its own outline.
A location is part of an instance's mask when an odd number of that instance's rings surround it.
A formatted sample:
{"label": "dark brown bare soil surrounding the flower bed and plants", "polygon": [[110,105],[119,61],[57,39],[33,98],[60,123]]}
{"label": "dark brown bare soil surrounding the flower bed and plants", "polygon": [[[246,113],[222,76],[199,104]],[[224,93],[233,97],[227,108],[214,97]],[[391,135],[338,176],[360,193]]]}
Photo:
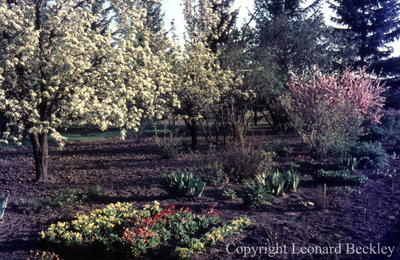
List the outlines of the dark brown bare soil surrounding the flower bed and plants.
{"label": "dark brown bare soil surrounding the flower bed and plants", "polygon": [[[289,143],[298,143],[295,137],[283,138]],[[286,246],[286,252],[282,251],[274,259],[386,259],[386,255],[373,254],[374,251],[369,251],[371,254],[346,254],[347,245],[372,246],[372,249],[376,249],[380,243],[380,246],[397,246],[392,259],[400,259],[399,176],[391,180],[375,177],[372,171],[364,171],[370,176],[365,186],[328,187],[329,205],[326,209],[319,209],[321,187],[313,182],[310,175],[304,174],[297,193],[279,197],[271,207],[248,210],[242,205],[241,199],[225,200],[222,197],[222,191],[227,186],[207,186],[203,196],[194,201],[175,200],[161,189],[158,181],[160,175],[178,169],[196,170],[200,167],[201,156],[207,155],[205,147],[200,149],[200,155],[186,152],[175,159],[162,159],[151,138],[140,142],[128,138],[125,141],[107,139],[70,143],[61,151],[51,147],[50,154],[51,182],[35,184],[32,182],[35,176],[30,149],[0,151],[0,195],[10,193],[8,208],[0,221],[0,259],[27,259],[30,250],[41,249],[37,242],[39,231],[45,230],[51,223],[70,220],[78,212],[87,213],[117,201],[131,202],[140,208],[154,200],[161,205],[189,206],[195,212],[215,206],[222,210],[224,219],[247,214],[255,220],[254,227],[195,255],[195,259],[242,258],[243,254],[226,251],[229,243],[232,243],[229,251],[234,251],[235,244],[238,253],[241,252],[240,246],[278,245],[281,249]],[[400,171],[400,160],[391,160],[391,165]],[[103,196],[95,202],[43,209],[40,212],[21,211],[17,207],[18,201],[23,198],[51,196],[67,187],[84,192],[94,184],[101,185],[104,190]],[[229,187],[239,189],[235,185]],[[300,246],[312,250],[315,246],[340,245],[341,254],[293,254],[293,245],[295,253]],[[94,255],[88,256],[79,251],[58,253],[65,259],[95,258]],[[101,256],[96,257],[102,259]],[[147,258],[160,257],[155,253]],[[264,259],[267,256],[259,252],[254,258]]]}

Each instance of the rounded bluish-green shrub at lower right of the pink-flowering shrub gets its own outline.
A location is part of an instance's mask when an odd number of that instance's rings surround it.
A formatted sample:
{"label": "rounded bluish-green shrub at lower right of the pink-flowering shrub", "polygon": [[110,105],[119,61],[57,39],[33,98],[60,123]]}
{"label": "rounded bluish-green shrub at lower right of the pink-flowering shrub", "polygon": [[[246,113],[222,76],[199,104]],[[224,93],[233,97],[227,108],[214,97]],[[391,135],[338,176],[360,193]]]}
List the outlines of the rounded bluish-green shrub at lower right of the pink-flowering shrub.
{"label": "rounded bluish-green shrub at lower right of the pink-flowering shrub", "polygon": [[382,147],[382,143],[361,142],[350,151],[359,162],[359,167],[364,169],[380,169],[389,165],[389,155]]}

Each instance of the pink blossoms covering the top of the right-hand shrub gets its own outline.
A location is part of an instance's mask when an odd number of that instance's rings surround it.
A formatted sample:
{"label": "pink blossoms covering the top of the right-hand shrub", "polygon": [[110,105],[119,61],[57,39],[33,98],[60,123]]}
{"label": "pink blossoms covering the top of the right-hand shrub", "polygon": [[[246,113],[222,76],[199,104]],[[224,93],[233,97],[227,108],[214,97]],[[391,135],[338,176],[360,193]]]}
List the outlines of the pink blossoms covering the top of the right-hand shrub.
{"label": "pink blossoms covering the top of the right-hand shrub", "polygon": [[[301,76],[292,76],[288,84],[293,111],[315,111],[319,102],[325,109],[337,111],[350,106],[350,112],[362,120],[379,122],[387,88],[382,82],[367,73],[366,68],[352,72],[350,68],[338,74],[306,71]],[[350,116],[350,115],[349,115]]]}

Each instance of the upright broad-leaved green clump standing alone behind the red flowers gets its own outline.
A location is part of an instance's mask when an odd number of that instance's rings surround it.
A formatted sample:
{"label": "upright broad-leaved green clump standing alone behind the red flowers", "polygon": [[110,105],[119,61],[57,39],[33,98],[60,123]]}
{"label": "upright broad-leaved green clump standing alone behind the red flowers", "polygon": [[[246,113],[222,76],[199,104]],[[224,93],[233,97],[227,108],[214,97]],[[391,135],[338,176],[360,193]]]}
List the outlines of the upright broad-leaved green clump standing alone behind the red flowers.
{"label": "upright broad-leaved green clump standing alone behind the red flowers", "polygon": [[163,188],[176,197],[200,197],[206,184],[192,172],[172,172],[161,178]]}

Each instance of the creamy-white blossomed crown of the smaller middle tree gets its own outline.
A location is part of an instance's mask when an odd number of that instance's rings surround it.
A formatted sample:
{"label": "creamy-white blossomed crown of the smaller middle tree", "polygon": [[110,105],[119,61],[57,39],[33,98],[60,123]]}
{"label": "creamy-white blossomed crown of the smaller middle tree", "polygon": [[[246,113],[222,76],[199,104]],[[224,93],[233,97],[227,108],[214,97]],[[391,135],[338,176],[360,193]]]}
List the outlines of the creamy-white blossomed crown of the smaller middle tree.
{"label": "creamy-white blossomed crown of the smaller middle tree", "polygon": [[[221,69],[218,53],[213,53],[208,40],[218,38],[220,14],[213,11],[213,4],[221,1],[186,0],[185,20],[189,38],[177,66],[175,92],[181,107],[178,114],[186,121],[199,120],[204,114],[217,109],[223,96],[242,83],[242,77],[230,69]],[[239,90],[238,90],[239,91]]]}

